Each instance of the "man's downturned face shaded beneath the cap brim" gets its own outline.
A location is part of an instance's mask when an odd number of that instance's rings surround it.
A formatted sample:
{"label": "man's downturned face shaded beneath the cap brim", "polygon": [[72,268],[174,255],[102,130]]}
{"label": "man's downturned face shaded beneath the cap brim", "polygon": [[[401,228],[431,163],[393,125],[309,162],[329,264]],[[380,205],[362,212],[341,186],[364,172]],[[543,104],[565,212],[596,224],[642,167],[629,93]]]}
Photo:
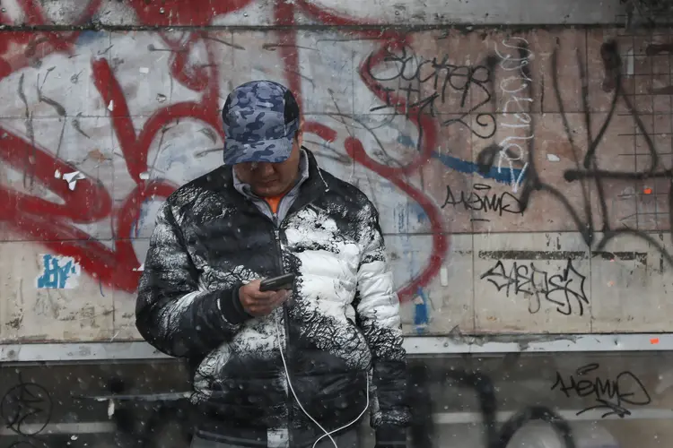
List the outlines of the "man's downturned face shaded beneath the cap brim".
{"label": "man's downturned face shaded beneath the cap brim", "polygon": [[293,139],[290,157],[280,163],[245,162],[234,166],[236,176],[249,184],[252,193],[261,197],[278,196],[290,190],[299,176],[302,132]]}

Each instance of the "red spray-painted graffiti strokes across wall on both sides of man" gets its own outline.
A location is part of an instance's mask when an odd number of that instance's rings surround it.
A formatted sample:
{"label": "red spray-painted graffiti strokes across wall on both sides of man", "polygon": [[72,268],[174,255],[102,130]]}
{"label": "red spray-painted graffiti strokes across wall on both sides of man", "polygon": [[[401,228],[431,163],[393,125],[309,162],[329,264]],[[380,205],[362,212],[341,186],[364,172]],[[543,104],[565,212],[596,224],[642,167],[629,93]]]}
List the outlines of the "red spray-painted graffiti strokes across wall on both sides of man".
{"label": "red spray-painted graffiti strokes across wall on both sides of man", "polygon": [[[85,22],[100,6],[99,1],[93,1],[84,9],[78,22]],[[211,2],[190,2],[186,7],[184,2],[169,1],[161,6],[145,4],[141,0],[129,2],[135,9],[139,20],[146,25],[206,25],[212,17],[232,13],[249,4],[249,0],[235,0],[218,4],[213,10]],[[279,1],[275,6],[275,22],[278,25],[292,25],[297,10],[316,17],[321,22],[332,25],[353,25],[354,21],[338,16],[299,0],[297,6]],[[26,16],[30,17],[31,24],[44,24],[46,19],[38,3],[31,0],[22,0]],[[297,9],[295,9],[297,8]],[[6,17],[0,16],[0,21]],[[295,47],[296,33],[291,30],[278,31],[282,46],[279,51],[284,60],[285,76],[288,85],[297,93],[301,102],[301,76],[299,71],[299,54]],[[358,31],[362,37],[376,36],[381,39],[382,45],[369,56],[372,67],[380,64],[386,50],[394,50],[408,43],[404,36],[392,32]],[[5,33],[0,39],[0,79],[10,73],[21,70],[31,64],[35,54],[40,57],[52,52],[72,54],[74,40],[78,33]],[[143,202],[153,198],[165,198],[177,185],[170,185],[161,180],[144,181],[141,174],[149,169],[147,158],[154,137],[162,132],[166,125],[180,118],[189,117],[199,120],[218,131],[223,138],[219,125],[218,94],[219,82],[216,61],[211,42],[205,31],[193,32],[187,39],[176,41],[170,39],[168,33],[160,32],[163,41],[171,50],[170,75],[187,87],[189,90],[200,92],[199,101],[187,101],[172,104],[156,110],[145,122],[143,129],[136,134],[127,106],[127,99],[121,89],[107,59],[101,58],[92,61],[92,78],[96,89],[105,104],[111,101],[115,106],[109,117],[112,128],[127,163],[128,174],[135,179],[134,190],[127,195],[121,205],[113,206],[109,192],[100,182],[87,177],[79,181],[75,191],[69,191],[66,183],[54,178],[55,170],[61,172],[74,171],[76,168],[56,159],[47,149],[39,148],[31,142],[26,142],[20,136],[0,127],[4,134],[4,144],[0,146],[0,159],[9,165],[31,176],[49,191],[59,195],[64,204],[49,202],[44,199],[22,194],[0,185],[0,219],[9,223],[17,232],[41,241],[45,246],[59,254],[73,256],[82,264],[85,271],[101,280],[101,283],[115,288],[132,292],[137,286],[139,273],[134,271],[138,267],[138,260],[131,244],[132,229],[140,218]],[[194,65],[188,61],[189,49],[197,43],[205,45],[208,61],[205,65]],[[8,55],[10,47],[26,47],[21,55]],[[29,51],[29,47],[33,47]],[[35,51],[39,48],[39,53]],[[179,51],[178,51],[179,50]],[[381,100],[385,100],[382,87],[368,76],[361,67],[363,82]],[[404,99],[395,101],[398,108],[405,108]],[[419,115],[420,116],[420,115]],[[433,231],[433,253],[424,270],[410,280],[399,295],[402,300],[412,297],[419,287],[424,287],[433,279],[441,267],[447,253],[449,239],[443,230],[441,214],[437,206],[423,192],[411,185],[406,177],[422,168],[430,159],[430,153],[436,144],[437,126],[429,117],[415,118],[410,114],[413,123],[423,130],[424,143],[422,151],[412,163],[402,168],[389,168],[381,165],[364,151],[363,143],[354,138],[345,141],[345,151],[356,163],[370,169],[381,177],[386,177],[393,184],[418,202],[427,214]],[[319,135],[320,138],[333,142],[337,132],[327,125],[309,122],[306,132]],[[30,155],[31,157],[27,157]],[[114,224],[114,249],[104,246],[86,232],[74,226],[75,223],[91,223],[111,218]]]}

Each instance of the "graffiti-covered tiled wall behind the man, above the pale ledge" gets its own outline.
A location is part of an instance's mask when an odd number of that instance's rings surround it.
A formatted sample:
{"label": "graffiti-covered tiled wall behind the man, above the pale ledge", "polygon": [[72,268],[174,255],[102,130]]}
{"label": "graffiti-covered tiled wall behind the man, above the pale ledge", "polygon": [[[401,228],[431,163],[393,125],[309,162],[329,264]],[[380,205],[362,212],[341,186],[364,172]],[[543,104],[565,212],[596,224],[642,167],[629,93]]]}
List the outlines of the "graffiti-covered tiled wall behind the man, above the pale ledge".
{"label": "graffiti-covered tiled wall behind the man, above the pale ledge", "polygon": [[[0,31],[0,340],[136,339],[154,215],[221,163],[224,99],[262,78],[379,208],[407,333],[669,330],[667,35],[406,32],[302,0],[54,4],[0,13],[73,25]],[[268,26],[206,26],[237,17]]]}

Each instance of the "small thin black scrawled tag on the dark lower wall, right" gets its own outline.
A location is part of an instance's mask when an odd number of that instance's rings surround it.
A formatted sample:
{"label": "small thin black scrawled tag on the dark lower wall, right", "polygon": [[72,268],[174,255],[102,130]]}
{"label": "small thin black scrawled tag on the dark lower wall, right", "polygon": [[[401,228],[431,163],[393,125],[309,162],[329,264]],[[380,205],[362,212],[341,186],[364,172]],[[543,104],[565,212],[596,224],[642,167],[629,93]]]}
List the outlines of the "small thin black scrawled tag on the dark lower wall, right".
{"label": "small thin black scrawled tag on the dark lower wall, right", "polygon": [[599,376],[590,378],[589,374],[598,370],[599,367],[597,363],[581,366],[575,371],[575,375],[570,375],[566,381],[563,375],[556,372],[556,382],[551,390],[558,388],[568,398],[576,395],[581,398],[595,399],[596,405],[581,409],[577,415],[591,409],[607,409],[607,412],[601,416],[602,418],[612,415],[624,418],[631,415],[631,411],[626,409],[625,405],[646,406],[651,403],[650,394],[633,372],[626,370],[616,375],[615,379],[601,379]]}

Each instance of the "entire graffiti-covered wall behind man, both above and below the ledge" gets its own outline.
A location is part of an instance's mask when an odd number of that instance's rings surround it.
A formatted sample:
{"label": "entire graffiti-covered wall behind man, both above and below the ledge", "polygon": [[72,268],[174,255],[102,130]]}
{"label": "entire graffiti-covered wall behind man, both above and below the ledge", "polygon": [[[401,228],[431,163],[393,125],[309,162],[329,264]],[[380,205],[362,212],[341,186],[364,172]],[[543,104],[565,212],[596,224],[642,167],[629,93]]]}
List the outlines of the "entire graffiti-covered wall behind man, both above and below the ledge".
{"label": "entire graffiti-covered wall behind man, both above and below the ledge", "polygon": [[[618,4],[3,1],[0,342],[137,338],[154,213],[258,78],[378,205],[407,334],[669,331],[673,47]],[[665,352],[411,358],[415,448],[502,446],[530,406],[582,448],[673,439]],[[188,389],[177,360],[5,363],[0,448],[184,447],[189,413],[137,395]],[[531,431],[572,446],[506,446]]]}

